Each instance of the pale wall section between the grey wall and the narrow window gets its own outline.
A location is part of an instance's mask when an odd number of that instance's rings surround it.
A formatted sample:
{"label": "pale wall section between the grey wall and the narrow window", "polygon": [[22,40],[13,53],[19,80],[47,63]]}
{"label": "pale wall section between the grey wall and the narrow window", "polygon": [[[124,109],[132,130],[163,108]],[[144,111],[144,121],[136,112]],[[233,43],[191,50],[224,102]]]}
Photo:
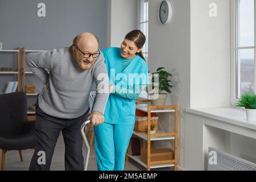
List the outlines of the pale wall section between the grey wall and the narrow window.
{"label": "pale wall section between the grey wall and the narrow window", "polygon": [[137,29],[137,0],[108,0],[107,43],[120,47],[125,35]]}

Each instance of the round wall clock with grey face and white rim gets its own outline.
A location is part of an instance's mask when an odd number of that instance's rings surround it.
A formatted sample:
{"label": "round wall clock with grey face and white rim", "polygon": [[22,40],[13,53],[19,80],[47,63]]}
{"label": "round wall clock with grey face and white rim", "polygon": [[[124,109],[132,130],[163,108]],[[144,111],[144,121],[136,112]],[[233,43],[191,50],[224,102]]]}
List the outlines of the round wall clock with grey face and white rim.
{"label": "round wall clock with grey face and white rim", "polygon": [[159,7],[159,20],[162,24],[170,21],[171,16],[171,3],[169,1],[162,1]]}

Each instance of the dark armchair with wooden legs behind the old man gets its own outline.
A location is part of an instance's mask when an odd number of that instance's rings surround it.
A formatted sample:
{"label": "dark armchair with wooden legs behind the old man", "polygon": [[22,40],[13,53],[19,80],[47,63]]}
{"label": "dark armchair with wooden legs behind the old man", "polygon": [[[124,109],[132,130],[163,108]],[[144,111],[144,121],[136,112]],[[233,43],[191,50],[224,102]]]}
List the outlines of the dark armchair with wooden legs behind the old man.
{"label": "dark armchair with wooden legs behind the old man", "polygon": [[27,98],[24,92],[0,94],[0,149],[2,167],[5,168],[5,154],[10,150],[35,148],[35,121],[27,121]]}

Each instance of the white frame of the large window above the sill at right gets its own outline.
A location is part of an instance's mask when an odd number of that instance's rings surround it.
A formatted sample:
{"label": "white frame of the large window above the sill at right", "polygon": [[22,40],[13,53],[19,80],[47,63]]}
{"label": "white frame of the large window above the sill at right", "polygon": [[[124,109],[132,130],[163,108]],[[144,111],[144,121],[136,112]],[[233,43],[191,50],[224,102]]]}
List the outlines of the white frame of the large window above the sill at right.
{"label": "white frame of the large window above the sill at right", "polygon": [[[238,72],[238,57],[237,52],[238,49],[254,49],[254,69],[256,71],[256,0],[254,0],[254,46],[251,47],[238,47],[237,43],[237,27],[238,27],[238,20],[237,20],[237,1],[232,0],[230,1],[230,28],[231,28],[231,93],[230,93],[230,104],[234,105],[238,100],[238,93],[240,92],[240,82],[238,80],[240,77],[240,73]],[[254,75],[254,86],[256,88],[256,77]],[[254,91],[255,91],[254,88]]]}

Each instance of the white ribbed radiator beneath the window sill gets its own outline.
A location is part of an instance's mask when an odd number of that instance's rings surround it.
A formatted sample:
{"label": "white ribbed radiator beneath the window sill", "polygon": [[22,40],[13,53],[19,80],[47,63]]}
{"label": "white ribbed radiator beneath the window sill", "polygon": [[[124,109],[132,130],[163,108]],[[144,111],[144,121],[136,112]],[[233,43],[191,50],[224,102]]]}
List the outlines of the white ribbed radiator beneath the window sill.
{"label": "white ribbed radiator beneath the window sill", "polygon": [[208,171],[256,171],[256,164],[209,147]]}

